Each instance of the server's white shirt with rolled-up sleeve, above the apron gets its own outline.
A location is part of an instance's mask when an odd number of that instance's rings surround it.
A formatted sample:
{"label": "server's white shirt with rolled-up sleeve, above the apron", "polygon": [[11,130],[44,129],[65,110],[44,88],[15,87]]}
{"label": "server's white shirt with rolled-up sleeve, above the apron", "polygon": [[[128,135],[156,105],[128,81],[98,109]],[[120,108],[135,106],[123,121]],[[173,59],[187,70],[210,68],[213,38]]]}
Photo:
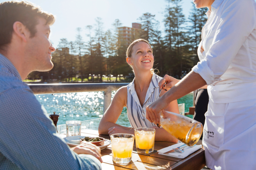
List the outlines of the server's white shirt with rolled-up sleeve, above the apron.
{"label": "server's white shirt with rolled-up sleeve, above the apron", "polygon": [[251,95],[256,91],[255,1],[215,0],[211,10],[204,26],[207,34],[198,47],[200,62],[192,70],[211,85],[209,97],[215,103],[255,99]]}

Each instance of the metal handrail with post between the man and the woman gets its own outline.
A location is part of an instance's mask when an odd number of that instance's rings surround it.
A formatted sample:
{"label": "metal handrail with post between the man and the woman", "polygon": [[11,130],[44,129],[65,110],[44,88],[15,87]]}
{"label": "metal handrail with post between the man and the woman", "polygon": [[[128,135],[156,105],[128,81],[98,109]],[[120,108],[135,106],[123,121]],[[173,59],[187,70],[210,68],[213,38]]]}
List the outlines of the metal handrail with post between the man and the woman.
{"label": "metal handrail with post between the man and the woman", "polygon": [[104,104],[103,113],[111,103],[111,91],[116,91],[129,83],[77,83],[77,84],[30,84],[29,87],[34,94],[59,94],[76,93],[88,91],[103,91]]}

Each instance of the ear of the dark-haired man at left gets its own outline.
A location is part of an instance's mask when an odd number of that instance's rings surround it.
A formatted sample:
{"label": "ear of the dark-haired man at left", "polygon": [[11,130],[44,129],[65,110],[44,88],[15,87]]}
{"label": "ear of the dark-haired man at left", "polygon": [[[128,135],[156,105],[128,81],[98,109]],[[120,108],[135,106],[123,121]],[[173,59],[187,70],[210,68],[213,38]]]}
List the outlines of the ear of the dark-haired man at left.
{"label": "ear of the dark-haired man at left", "polygon": [[27,39],[30,37],[29,30],[19,21],[16,21],[13,24],[13,31],[14,34],[16,34],[17,37],[20,37],[24,42],[27,42]]}

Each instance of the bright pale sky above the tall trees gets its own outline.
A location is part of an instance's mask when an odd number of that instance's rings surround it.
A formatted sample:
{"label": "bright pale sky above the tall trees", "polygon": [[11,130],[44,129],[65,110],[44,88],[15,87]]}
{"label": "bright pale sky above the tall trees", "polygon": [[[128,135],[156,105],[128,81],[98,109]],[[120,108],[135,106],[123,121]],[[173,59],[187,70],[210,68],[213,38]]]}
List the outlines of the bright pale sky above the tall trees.
{"label": "bright pale sky above the tall trees", "polygon": [[[6,0],[0,0],[4,2]],[[168,5],[166,0],[28,0],[35,3],[44,11],[56,16],[55,23],[51,26],[50,40],[57,47],[61,38],[68,41],[76,40],[76,28],[81,27],[81,35],[86,41],[85,26],[95,25],[95,18],[101,17],[104,23],[104,31],[113,28],[112,23],[119,19],[122,26],[131,27],[131,23],[139,23],[137,20],[142,14],[149,12],[155,15],[163,30],[164,11]],[[186,19],[192,8],[192,0],[183,0],[182,8]]]}

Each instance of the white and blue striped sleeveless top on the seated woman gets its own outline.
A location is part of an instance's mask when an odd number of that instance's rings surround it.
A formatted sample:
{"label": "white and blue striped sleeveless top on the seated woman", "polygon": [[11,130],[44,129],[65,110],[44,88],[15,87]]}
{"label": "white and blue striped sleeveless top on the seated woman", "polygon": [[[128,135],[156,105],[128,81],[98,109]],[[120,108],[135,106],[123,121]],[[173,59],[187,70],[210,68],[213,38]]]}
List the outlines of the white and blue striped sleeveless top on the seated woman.
{"label": "white and blue striped sleeveless top on the seated woman", "polygon": [[[135,78],[134,78],[135,79]],[[143,106],[140,105],[140,100],[137,96],[134,87],[134,80],[127,85],[127,116],[131,127],[152,127],[157,126],[154,123],[151,123],[146,119],[146,106],[148,102],[154,102],[159,95],[159,85],[158,82],[163,79],[162,77],[157,76],[156,74],[152,75],[150,85],[145,97],[145,102]]]}

